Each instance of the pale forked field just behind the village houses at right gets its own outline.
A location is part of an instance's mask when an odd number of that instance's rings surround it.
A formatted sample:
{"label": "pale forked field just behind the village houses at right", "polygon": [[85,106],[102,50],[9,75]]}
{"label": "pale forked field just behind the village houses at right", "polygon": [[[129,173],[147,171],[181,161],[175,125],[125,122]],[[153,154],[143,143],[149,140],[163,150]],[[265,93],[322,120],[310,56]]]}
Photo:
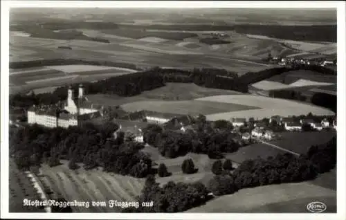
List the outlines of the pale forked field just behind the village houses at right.
{"label": "pale forked field just behind the village houses at right", "polygon": [[232,103],[240,105],[251,105],[260,109],[249,109],[244,111],[225,111],[224,113],[213,113],[206,115],[208,120],[219,120],[228,118],[270,118],[271,116],[300,116],[311,112],[314,115],[331,115],[335,113],[322,107],[304,104],[291,100],[279,98],[267,98],[259,95],[215,95],[197,100]]}

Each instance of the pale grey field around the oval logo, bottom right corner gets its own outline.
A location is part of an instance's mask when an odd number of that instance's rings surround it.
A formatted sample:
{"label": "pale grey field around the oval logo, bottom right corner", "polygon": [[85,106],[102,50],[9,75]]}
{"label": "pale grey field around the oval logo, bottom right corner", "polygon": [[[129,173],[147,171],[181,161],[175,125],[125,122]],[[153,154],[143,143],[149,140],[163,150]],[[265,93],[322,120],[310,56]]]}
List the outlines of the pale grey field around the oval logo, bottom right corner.
{"label": "pale grey field around the oval logo, bottom right corner", "polygon": [[325,212],[336,212],[336,190],[316,184],[335,182],[336,178],[330,178],[330,175],[335,176],[336,173],[331,171],[318,176],[316,180],[302,183],[242,189],[235,194],[219,196],[187,212],[309,212],[307,204],[312,201],[325,203]]}

